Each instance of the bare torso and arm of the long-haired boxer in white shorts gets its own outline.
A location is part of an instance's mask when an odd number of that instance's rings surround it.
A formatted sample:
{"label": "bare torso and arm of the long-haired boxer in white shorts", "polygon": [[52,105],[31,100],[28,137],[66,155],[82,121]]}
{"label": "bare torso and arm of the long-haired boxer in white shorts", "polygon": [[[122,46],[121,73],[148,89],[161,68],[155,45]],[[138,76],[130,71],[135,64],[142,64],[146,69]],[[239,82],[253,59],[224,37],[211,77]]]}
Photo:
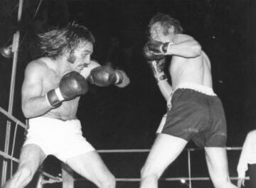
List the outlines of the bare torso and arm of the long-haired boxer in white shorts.
{"label": "bare torso and arm of the long-haired boxer in white shorts", "polygon": [[42,57],[38,60],[30,62],[26,67],[25,77],[22,86],[22,110],[26,118],[33,118],[36,116],[46,116],[50,118],[59,118],[62,120],[77,118],[78,102],[80,96],[75,97],[69,101],[63,101],[62,104],[56,108],[50,108],[46,100],[46,93],[51,89],[59,87],[60,79],[64,74],[70,71],[78,71],[85,77],[90,74],[90,71],[100,66],[95,61],[80,69],[70,66],[70,62],[66,64],[60,60],[54,62],[48,57]]}

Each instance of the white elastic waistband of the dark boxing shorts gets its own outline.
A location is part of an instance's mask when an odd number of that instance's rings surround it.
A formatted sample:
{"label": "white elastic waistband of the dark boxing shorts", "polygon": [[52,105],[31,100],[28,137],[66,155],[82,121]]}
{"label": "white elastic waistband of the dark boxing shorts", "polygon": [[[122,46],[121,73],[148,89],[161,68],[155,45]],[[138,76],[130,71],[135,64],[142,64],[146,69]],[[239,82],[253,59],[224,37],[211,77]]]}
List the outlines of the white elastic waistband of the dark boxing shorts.
{"label": "white elastic waistband of the dark boxing shorts", "polygon": [[210,95],[210,96],[217,96],[213,92],[213,88],[203,86],[201,84],[196,84],[196,83],[193,83],[193,82],[183,82],[181,84],[178,84],[178,86],[176,87],[176,89],[174,91],[176,91],[177,89],[193,89],[196,92],[201,92],[203,94],[207,94],[207,95]]}

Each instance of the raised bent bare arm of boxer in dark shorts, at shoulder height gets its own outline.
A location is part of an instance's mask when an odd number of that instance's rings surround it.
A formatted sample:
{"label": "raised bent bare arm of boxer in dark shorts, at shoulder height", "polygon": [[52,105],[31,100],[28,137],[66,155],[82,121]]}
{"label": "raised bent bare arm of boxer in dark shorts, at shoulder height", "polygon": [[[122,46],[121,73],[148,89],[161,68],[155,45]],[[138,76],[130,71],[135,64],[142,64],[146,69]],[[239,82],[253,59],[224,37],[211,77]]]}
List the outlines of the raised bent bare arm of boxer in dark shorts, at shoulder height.
{"label": "raised bent bare arm of boxer in dark shorts, at shoulder height", "polygon": [[193,58],[201,55],[201,45],[191,36],[176,34],[170,45],[166,45],[166,55]]}

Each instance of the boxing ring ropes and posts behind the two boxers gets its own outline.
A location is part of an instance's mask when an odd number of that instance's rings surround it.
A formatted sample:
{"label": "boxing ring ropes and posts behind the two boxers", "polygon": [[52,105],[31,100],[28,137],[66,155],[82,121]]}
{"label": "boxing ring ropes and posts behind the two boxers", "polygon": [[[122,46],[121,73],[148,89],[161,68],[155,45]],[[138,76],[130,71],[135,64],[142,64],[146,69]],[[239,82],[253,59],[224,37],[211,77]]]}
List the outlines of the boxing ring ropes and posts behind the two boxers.
{"label": "boxing ring ropes and posts behind the two boxers", "polygon": [[[40,2],[41,4],[41,2]],[[40,6],[38,5],[38,8]],[[21,21],[21,12],[22,12],[23,0],[19,0],[18,3],[18,22]],[[36,14],[35,14],[36,15]],[[18,118],[12,115],[13,110],[13,101],[14,101],[14,86],[15,86],[15,78],[16,78],[16,64],[18,59],[18,45],[19,45],[19,38],[20,32],[16,31],[14,33],[14,39],[12,43],[12,52],[14,52],[13,57],[13,67],[11,72],[11,87],[10,87],[10,94],[9,94],[9,108],[8,111],[0,107],[0,115],[5,116],[6,118],[6,136],[5,136],[5,145],[4,150],[0,150],[0,159],[3,163],[2,171],[1,171],[1,186],[4,185],[6,179],[9,179],[13,175],[13,169],[15,168],[13,163],[15,162],[16,166],[18,164],[18,158],[14,157],[14,148],[16,145],[16,134],[17,131],[20,130],[18,127],[23,128],[22,132],[26,131],[26,123],[22,123],[18,120]],[[13,134],[11,135],[11,128],[14,128]],[[13,138],[11,142],[11,138]],[[10,147],[10,143],[12,143]],[[226,148],[228,151],[230,150],[241,150],[241,147],[236,148]],[[10,151],[11,150],[11,151]],[[186,152],[187,157],[187,172],[188,176],[185,177],[163,177],[160,181],[179,181],[182,184],[186,184],[189,188],[192,188],[193,181],[208,181],[210,180],[209,177],[192,177],[191,175],[191,153],[195,152],[196,150],[200,150],[199,148],[186,148],[184,152]],[[134,149],[134,150],[97,150],[98,153],[148,153],[148,149]],[[129,164],[127,164],[129,165]],[[142,166],[142,165],[141,165]],[[15,169],[16,170],[16,169]],[[7,175],[9,173],[9,177]],[[50,175],[47,172],[44,172],[42,168],[38,170],[39,178],[38,183],[36,185],[37,188],[42,188],[44,184],[55,184],[55,183],[62,183],[63,188],[73,188],[74,182],[83,179],[75,179],[73,177],[73,171],[67,165],[62,165],[62,175],[61,177]],[[238,179],[237,177],[230,177],[230,179]],[[246,179],[249,179],[246,177]],[[139,182],[140,179],[138,178],[122,178],[117,177],[117,182]],[[53,185],[54,187],[54,185]]]}

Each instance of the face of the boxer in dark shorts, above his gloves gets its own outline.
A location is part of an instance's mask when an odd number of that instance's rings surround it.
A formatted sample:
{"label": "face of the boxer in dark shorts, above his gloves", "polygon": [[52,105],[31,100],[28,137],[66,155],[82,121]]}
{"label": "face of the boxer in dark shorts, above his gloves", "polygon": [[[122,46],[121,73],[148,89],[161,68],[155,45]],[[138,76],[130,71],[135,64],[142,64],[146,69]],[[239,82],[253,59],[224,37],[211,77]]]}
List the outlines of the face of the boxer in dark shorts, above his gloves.
{"label": "face of the boxer in dark shorts, above his gloves", "polygon": [[160,22],[154,23],[151,26],[149,32],[153,40],[157,40],[162,43],[169,42],[171,39],[171,36],[173,35],[173,33],[171,33],[171,29],[168,29],[168,31],[166,31],[166,28],[161,26]]}

